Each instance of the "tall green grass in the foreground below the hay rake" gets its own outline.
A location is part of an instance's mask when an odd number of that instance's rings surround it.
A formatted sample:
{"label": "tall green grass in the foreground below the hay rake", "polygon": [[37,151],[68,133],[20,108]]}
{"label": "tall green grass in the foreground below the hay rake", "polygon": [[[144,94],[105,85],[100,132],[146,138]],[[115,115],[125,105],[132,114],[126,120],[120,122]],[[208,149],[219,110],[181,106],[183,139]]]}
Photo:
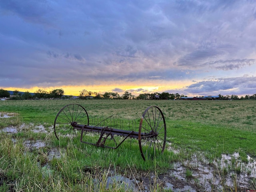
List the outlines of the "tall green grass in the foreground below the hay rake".
{"label": "tall green grass in the foreground below the hay rake", "polygon": [[[60,158],[49,160],[47,150],[29,150],[24,147],[22,138],[17,138],[13,144],[10,136],[2,137],[0,191],[127,191],[118,183],[106,188],[110,170],[118,168],[115,174],[126,174],[128,170],[138,174],[137,170],[153,168],[157,173],[169,166],[164,168],[160,160],[155,161],[156,164],[144,162],[138,154],[129,156],[129,152],[124,151],[121,157],[120,151],[93,146],[68,144],[58,150]],[[125,164],[121,158],[126,158]],[[166,158],[161,160],[167,161]]]}

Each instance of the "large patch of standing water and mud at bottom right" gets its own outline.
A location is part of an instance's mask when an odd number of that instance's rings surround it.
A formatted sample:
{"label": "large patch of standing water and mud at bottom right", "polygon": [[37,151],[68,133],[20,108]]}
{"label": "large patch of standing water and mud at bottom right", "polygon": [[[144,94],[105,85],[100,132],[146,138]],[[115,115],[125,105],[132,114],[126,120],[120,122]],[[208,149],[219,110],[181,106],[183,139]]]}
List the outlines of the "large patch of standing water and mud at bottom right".
{"label": "large patch of standing water and mud at bottom right", "polygon": [[[251,189],[253,178],[256,178],[256,160],[248,156],[248,163],[239,159],[239,153],[222,154],[221,159],[210,164],[203,157],[193,156],[192,160],[174,163],[163,180],[166,189],[172,191],[226,191],[227,189]],[[175,178],[175,179],[173,179]],[[252,186],[251,186],[252,184]],[[188,186],[190,189],[188,190]]]}

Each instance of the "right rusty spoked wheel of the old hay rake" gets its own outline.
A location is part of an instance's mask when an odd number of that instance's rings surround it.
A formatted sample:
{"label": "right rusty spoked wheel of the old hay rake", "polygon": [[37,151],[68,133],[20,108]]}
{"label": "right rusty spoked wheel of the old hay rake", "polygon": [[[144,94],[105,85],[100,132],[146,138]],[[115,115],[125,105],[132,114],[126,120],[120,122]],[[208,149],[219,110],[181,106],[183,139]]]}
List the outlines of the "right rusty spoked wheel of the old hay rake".
{"label": "right rusty spoked wheel of the old hay rake", "polygon": [[157,106],[149,106],[142,115],[138,133],[140,153],[144,160],[154,158],[164,152],[166,124],[162,111]]}

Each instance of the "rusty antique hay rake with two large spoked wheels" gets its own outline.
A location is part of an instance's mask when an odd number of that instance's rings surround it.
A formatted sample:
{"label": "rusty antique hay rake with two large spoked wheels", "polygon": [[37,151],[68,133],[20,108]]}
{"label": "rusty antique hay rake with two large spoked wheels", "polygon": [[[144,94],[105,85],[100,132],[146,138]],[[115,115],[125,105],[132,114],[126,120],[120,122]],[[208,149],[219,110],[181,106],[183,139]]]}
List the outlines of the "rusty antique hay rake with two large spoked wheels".
{"label": "rusty antique hay rake with two large spoked wheels", "polygon": [[72,140],[80,136],[80,142],[112,149],[118,148],[127,138],[134,138],[138,140],[140,154],[144,160],[164,151],[166,123],[162,111],[157,106],[149,106],[144,111],[138,128],[134,129],[135,120],[126,123],[129,128],[132,124],[132,130],[114,128],[116,124],[124,123],[115,121],[110,116],[103,120],[92,118],[89,124],[85,108],[79,104],[69,104],[58,112],[54,121],[54,133],[58,140]]}

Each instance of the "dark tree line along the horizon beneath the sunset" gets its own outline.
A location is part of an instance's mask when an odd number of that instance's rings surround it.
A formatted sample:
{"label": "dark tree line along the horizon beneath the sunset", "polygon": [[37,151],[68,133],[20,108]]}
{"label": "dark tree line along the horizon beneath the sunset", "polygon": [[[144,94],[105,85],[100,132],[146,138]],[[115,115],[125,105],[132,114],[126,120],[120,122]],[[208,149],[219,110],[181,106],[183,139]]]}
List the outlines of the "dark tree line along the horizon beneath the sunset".
{"label": "dark tree line along the horizon beneath the sunset", "polygon": [[[77,97],[78,99],[138,99],[138,100],[154,100],[154,99],[160,99],[160,100],[174,100],[174,99],[180,99],[181,97],[186,97],[183,94],[173,94],[168,92],[162,92],[162,93],[143,93],[139,94],[138,96],[132,95],[130,92],[126,91],[124,94],[119,95],[117,92],[105,92],[104,94],[97,93],[97,92],[91,92],[86,89],[83,89],[79,91],[80,94]],[[0,98],[10,98],[10,92],[7,90],[4,90],[0,88]],[[197,96],[196,96],[197,97]],[[202,96],[203,97],[203,96]],[[19,92],[18,90],[13,91],[13,96],[10,98],[11,100],[27,100],[27,99],[71,99],[73,98],[72,95],[70,96],[64,96],[64,90],[62,88],[60,89],[54,89],[49,92],[38,89],[34,92],[34,94],[31,94],[29,91],[26,92]],[[238,100],[238,99],[256,99],[256,94],[253,95],[246,95],[241,96],[240,98],[237,95],[226,95],[223,96],[219,94],[220,100]]]}

